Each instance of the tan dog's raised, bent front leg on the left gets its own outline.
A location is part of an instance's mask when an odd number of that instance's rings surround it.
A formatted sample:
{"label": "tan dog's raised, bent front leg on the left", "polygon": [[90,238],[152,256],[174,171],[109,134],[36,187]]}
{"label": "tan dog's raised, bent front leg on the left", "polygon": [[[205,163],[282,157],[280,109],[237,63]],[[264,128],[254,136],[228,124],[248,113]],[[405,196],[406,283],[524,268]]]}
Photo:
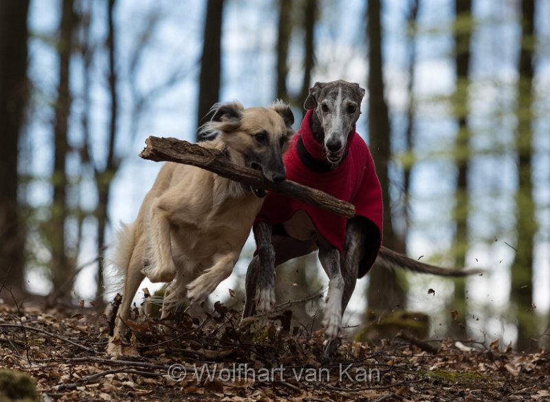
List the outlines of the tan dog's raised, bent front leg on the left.
{"label": "tan dog's raised, bent front leg on the left", "polygon": [[169,216],[170,211],[162,199],[153,203],[148,227],[148,239],[153,256],[151,265],[143,270],[151,282],[170,282],[175,278],[176,267],[172,258]]}

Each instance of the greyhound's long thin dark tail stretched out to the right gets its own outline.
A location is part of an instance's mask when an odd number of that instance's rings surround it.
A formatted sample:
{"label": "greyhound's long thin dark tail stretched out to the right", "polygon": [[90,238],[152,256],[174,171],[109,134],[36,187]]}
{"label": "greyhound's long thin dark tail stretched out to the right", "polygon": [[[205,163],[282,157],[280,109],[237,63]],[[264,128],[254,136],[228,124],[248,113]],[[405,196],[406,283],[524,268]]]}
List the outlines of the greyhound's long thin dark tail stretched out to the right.
{"label": "greyhound's long thin dark tail stretched out to the right", "polygon": [[436,267],[435,265],[420,263],[417,260],[413,260],[403,254],[394,252],[384,246],[380,247],[380,253],[378,254],[376,262],[386,268],[408,269],[413,272],[432,273],[433,275],[448,276],[452,278],[461,278],[463,276],[483,273],[483,269],[446,269]]}

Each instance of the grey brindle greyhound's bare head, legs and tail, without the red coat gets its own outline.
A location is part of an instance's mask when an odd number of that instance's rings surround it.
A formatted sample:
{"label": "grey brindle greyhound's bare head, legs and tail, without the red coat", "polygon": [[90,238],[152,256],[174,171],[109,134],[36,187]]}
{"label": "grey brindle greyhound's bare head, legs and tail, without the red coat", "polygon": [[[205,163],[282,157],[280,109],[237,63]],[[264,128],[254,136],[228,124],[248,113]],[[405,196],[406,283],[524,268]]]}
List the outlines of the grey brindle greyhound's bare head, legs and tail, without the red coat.
{"label": "grey brindle greyhound's bare head, legs and tail, without the red coat", "polygon": [[[304,107],[308,110],[313,109],[310,122],[311,133],[318,143],[324,144],[326,162],[333,168],[338,167],[346,157],[347,139],[349,133],[355,130],[355,122],[361,113],[360,104],[364,93],[364,89],[358,84],[343,80],[316,82],[309,90]],[[287,175],[288,173],[287,166]],[[325,326],[325,335],[332,341],[338,337],[342,314],[355,289],[358,273],[360,273],[360,262],[365,258],[365,250],[369,248],[366,247],[366,242],[380,242],[380,232],[363,216],[349,219],[345,230],[343,253],[340,255],[340,251],[316,230],[316,226],[307,214],[296,213],[290,221],[283,222],[283,226],[286,229],[283,234],[275,230],[275,225],[265,221],[259,221],[254,226],[258,254],[252,259],[246,275],[243,317],[254,315],[255,312],[272,311],[275,306],[275,268],[287,260],[318,249],[318,258],[329,277],[327,304],[322,324]],[[296,231],[289,230],[292,227],[299,227],[302,232],[306,228],[307,234],[293,236]],[[371,256],[372,262],[375,259],[375,255]],[[419,263],[385,247],[380,248],[377,262],[385,267],[402,267],[440,276],[465,276],[478,272],[443,269]],[[368,271],[368,268],[366,270]],[[359,276],[364,275],[365,272],[360,273]],[[329,344],[333,345],[333,342]]]}

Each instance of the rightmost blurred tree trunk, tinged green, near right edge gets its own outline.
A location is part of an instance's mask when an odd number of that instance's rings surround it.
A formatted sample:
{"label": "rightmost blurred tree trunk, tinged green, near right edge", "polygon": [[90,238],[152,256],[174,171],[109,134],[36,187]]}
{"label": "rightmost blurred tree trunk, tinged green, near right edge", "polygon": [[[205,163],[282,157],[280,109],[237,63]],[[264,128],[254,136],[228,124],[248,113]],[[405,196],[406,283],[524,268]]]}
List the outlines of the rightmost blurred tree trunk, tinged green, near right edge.
{"label": "rightmost blurred tree trunk, tinged green, near right edge", "polygon": [[518,190],[516,194],[516,227],[518,240],[516,257],[511,265],[511,300],[516,304],[518,320],[518,350],[536,346],[531,337],[536,336],[536,315],[533,303],[533,238],[537,232],[536,205],[533,202],[531,153],[533,133],[531,129],[531,104],[533,102],[533,41],[535,26],[535,1],[523,0],[521,49],[518,60],[518,126],[516,152],[518,160]]}

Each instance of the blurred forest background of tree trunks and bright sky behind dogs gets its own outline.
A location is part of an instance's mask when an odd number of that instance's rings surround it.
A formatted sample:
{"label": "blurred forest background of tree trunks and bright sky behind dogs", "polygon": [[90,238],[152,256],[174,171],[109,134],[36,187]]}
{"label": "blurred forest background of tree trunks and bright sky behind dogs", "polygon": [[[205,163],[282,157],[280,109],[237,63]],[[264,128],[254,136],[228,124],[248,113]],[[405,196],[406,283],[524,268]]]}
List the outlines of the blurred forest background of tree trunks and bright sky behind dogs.
{"label": "blurred forest background of tree trunks and bright sky behind dogs", "polygon": [[[547,346],[548,21],[545,0],[1,0],[0,298],[104,304],[100,256],[160,168],[137,157],[148,135],[195,140],[233,99],[281,98],[297,129],[307,89],[342,78],[367,89],[358,132],[384,188],[384,243],[487,269],[375,267],[344,323]],[[241,306],[252,249],[211,301]],[[326,280],[307,256],[278,284],[283,302]]]}

